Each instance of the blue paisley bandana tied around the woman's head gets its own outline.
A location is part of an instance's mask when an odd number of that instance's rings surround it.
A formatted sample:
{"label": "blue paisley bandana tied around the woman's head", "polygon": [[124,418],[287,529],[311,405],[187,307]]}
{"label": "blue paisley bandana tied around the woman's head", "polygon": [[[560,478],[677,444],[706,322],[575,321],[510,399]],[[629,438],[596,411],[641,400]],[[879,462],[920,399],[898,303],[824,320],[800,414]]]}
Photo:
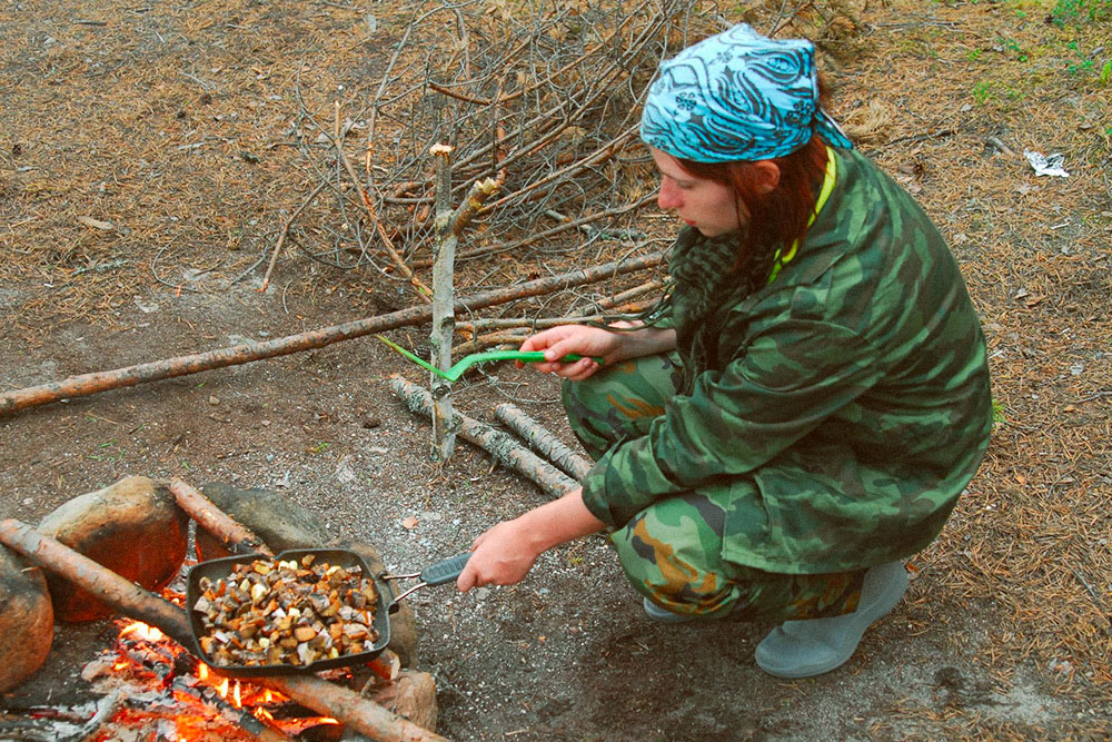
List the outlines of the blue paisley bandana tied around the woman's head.
{"label": "blue paisley bandana tied around the woman's head", "polygon": [[853,147],[817,99],[814,44],[768,39],[739,23],[661,65],[641,138],[696,162],[783,157],[814,133]]}

